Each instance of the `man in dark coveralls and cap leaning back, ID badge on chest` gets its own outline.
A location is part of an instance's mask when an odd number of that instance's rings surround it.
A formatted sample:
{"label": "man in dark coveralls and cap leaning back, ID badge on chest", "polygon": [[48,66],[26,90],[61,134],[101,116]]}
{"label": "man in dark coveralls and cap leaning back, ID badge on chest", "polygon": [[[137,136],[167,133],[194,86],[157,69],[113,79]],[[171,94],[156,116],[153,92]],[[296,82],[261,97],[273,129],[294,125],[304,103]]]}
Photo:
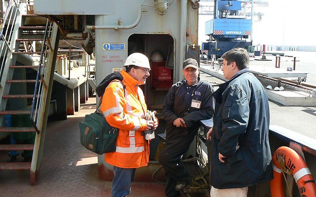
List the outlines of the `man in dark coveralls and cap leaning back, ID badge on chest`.
{"label": "man in dark coveralls and cap leaning back, ID badge on chest", "polygon": [[159,162],[166,172],[167,197],[179,196],[178,191],[188,183],[188,172],[180,159],[197,134],[198,121],[210,119],[214,113],[213,87],[206,81],[200,81],[199,71],[195,59],[186,59],[183,62],[185,79],[173,84],[162,106],[167,136]]}

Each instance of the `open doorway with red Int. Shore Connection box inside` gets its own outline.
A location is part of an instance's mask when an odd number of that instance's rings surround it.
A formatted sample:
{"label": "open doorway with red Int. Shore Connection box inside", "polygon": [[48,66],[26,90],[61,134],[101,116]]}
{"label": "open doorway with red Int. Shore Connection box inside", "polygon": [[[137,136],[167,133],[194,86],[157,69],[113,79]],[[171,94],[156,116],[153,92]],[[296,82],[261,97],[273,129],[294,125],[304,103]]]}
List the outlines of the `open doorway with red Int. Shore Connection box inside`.
{"label": "open doorway with red Int. Shore Connection box inside", "polygon": [[170,87],[174,84],[174,38],[170,34],[132,34],[128,38],[128,55],[145,54],[150,63],[150,76],[142,87],[147,108],[156,111],[159,127],[155,130],[155,138],[150,141],[149,160],[158,160],[161,141],[157,134],[164,133],[166,122],[162,115],[162,105]]}

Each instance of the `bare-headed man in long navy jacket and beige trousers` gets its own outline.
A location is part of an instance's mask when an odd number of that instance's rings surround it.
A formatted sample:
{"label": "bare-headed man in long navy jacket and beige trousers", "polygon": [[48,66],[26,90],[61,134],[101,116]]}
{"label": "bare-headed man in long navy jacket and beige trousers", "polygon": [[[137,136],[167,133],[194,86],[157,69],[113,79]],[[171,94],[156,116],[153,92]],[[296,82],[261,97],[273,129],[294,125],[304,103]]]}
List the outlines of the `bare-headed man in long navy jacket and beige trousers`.
{"label": "bare-headed man in long navy jacket and beige trousers", "polygon": [[269,102],[250,72],[249,55],[236,48],[222,55],[227,82],[214,92],[211,138],[211,197],[246,197],[248,187],[273,178]]}

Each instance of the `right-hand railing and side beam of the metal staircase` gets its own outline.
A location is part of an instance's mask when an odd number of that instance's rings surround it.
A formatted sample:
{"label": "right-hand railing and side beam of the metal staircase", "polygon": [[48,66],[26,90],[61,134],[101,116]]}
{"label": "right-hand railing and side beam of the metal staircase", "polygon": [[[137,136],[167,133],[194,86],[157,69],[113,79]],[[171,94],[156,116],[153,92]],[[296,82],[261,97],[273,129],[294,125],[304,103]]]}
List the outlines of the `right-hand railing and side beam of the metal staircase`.
{"label": "right-hand railing and side beam of the metal staircase", "polygon": [[33,95],[31,110],[31,121],[37,134],[35,136],[32,163],[31,163],[31,183],[35,183],[37,172],[40,170],[44,139],[46,133],[47,117],[52,92],[52,84],[57,57],[60,31],[54,22],[48,22],[45,30],[41,53],[41,66],[38,67],[36,88]]}

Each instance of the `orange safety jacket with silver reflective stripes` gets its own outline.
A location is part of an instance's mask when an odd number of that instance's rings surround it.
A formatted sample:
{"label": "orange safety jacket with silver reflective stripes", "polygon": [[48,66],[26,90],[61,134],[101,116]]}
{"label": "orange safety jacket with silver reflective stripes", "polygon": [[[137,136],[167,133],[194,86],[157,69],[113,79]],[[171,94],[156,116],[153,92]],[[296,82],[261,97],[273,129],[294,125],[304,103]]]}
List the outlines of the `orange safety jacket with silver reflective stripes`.
{"label": "orange safety jacket with silver reflective stripes", "polygon": [[116,152],[105,153],[106,163],[121,168],[146,166],[149,161],[149,141],[142,131],[147,128],[145,112],[147,106],[140,82],[125,71],[121,71],[125,87],[113,80],[105,89],[101,110],[106,121],[119,129]]}

